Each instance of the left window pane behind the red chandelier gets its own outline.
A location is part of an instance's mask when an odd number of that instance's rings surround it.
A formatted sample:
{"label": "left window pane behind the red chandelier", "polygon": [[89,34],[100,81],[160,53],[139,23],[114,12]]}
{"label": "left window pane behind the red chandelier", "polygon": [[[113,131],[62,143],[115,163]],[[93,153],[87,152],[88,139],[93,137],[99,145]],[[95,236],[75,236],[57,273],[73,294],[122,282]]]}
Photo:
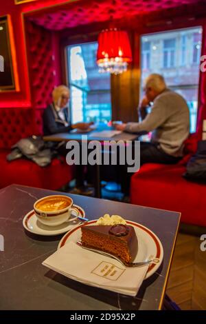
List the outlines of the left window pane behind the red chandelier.
{"label": "left window pane behind the red chandelier", "polygon": [[67,46],[71,121],[111,121],[110,74],[98,72],[98,43]]}

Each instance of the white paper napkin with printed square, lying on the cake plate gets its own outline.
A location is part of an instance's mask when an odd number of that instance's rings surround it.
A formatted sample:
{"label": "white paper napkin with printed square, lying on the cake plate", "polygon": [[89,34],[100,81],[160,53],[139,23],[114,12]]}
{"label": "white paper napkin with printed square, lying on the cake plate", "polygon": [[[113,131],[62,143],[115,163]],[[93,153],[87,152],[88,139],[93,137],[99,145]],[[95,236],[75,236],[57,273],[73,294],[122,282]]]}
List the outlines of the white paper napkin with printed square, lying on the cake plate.
{"label": "white paper napkin with printed square, lying on the cake plate", "polygon": [[148,270],[148,265],[125,267],[115,259],[84,250],[73,242],[54,252],[43,265],[80,283],[128,296],[136,296]]}

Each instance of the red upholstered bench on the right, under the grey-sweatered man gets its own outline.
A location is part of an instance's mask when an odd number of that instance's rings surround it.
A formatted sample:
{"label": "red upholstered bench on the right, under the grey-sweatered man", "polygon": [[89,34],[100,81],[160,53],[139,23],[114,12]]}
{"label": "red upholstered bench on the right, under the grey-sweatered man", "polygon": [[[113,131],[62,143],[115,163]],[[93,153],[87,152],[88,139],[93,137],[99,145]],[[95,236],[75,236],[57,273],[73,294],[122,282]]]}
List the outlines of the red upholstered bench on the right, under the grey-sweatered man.
{"label": "red upholstered bench on the right, under the grey-sweatered man", "polygon": [[164,210],[181,212],[181,222],[206,226],[206,185],[183,178],[185,163],[196,150],[196,136],[185,143],[186,155],[176,165],[148,163],[133,174],[130,201]]}

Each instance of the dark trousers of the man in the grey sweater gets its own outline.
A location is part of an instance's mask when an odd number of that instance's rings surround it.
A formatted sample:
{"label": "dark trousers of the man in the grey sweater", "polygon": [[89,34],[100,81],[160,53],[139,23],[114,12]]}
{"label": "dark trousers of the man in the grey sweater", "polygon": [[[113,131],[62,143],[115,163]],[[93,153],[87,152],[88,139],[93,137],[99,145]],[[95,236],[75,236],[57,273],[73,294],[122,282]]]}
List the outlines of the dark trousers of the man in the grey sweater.
{"label": "dark trousers of the man in the grey sweater", "polygon": [[[144,163],[162,163],[162,164],[175,164],[178,163],[180,157],[175,157],[165,153],[157,144],[140,142],[140,165]],[[127,172],[128,165],[119,165],[119,172],[121,177],[122,192],[129,194],[130,192],[130,178],[132,172]]]}

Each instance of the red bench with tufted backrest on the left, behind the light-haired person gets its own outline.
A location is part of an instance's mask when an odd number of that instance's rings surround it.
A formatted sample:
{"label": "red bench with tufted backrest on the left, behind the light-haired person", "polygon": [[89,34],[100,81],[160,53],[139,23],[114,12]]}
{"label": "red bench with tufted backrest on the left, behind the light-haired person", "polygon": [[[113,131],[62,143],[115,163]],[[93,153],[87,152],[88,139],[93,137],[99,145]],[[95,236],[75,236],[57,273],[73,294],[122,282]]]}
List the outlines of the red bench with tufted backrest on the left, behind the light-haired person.
{"label": "red bench with tufted backrest on the left, behind the light-haired person", "polygon": [[57,190],[73,179],[73,168],[65,159],[53,159],[41,168],[27,159],[6,161],[14,143],[33,134],[42,134],[43,110],[0,108],[0,188],[18,183]]}

